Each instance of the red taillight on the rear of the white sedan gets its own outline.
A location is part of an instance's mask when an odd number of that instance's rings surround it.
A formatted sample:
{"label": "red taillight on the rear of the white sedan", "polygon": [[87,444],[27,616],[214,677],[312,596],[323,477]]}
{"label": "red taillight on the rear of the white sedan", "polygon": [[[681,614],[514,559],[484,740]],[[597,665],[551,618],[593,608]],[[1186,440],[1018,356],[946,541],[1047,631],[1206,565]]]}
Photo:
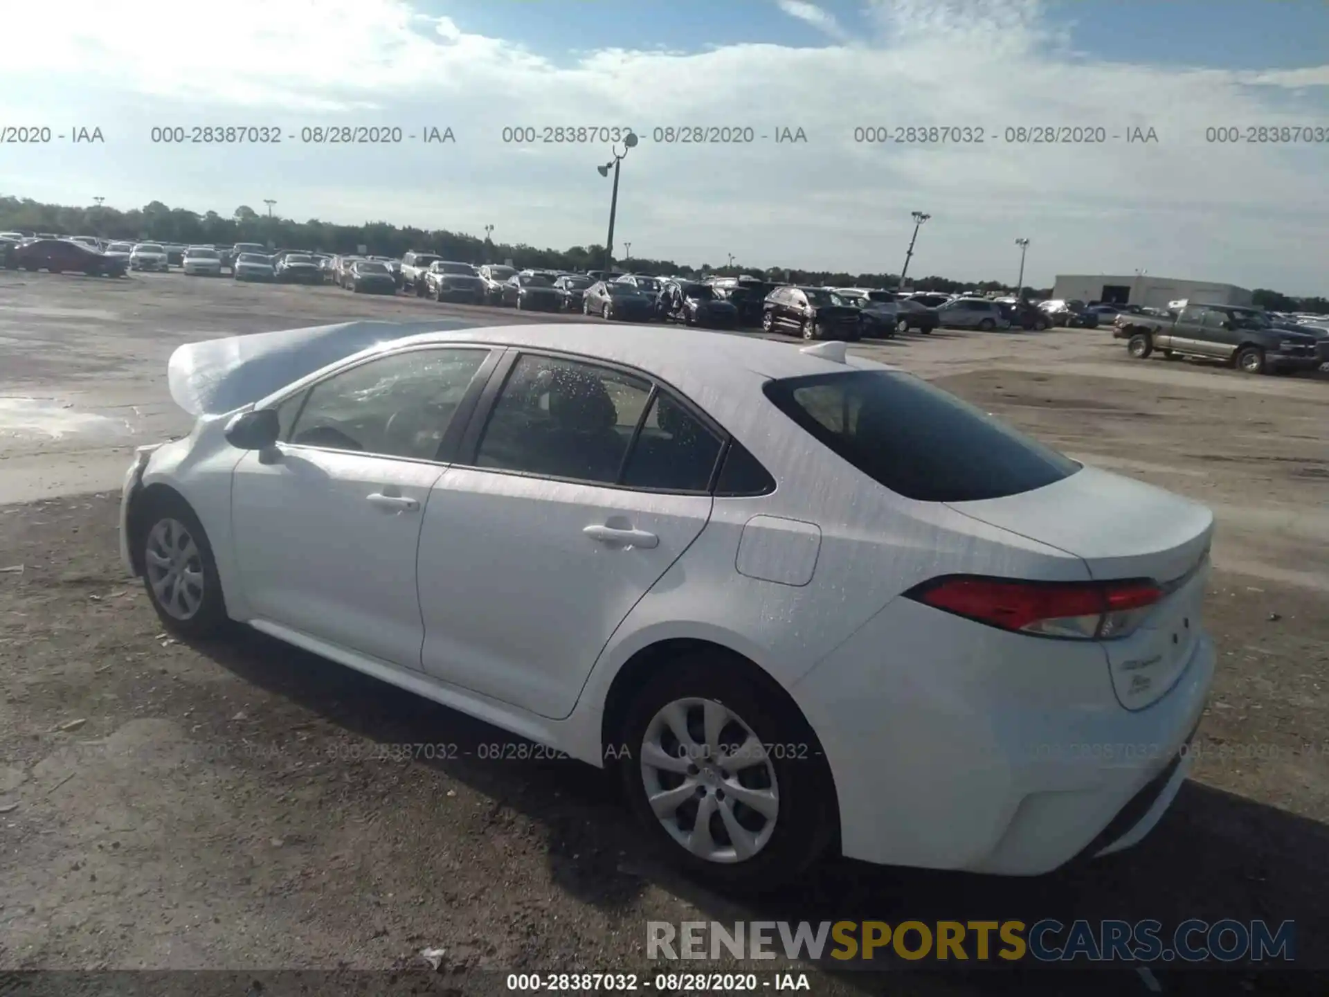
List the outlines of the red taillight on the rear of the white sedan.
{"label": "red taillight on the rear of the white sedan", "polygon": [[1025,582],[952,576],[917,586],[909,598],[1002,630],[1039,637],[1124,637],[1163,592],[1152,581]]}

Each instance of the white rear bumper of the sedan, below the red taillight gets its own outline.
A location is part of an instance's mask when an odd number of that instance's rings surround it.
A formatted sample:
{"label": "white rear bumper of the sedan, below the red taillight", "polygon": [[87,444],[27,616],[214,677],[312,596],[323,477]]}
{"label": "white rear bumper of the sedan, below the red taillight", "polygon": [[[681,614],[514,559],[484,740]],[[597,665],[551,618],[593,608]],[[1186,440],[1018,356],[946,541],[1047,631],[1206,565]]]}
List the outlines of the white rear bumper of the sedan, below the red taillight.
{"label": "white rear bumper of the sedan, below the red taillight", "polygon": [[1185,779],[1212,641],[1131,711],[1100,645],[932,613],[897,600],[792,690],[831,764],[844,853],[1029,876],[1144,837]]}

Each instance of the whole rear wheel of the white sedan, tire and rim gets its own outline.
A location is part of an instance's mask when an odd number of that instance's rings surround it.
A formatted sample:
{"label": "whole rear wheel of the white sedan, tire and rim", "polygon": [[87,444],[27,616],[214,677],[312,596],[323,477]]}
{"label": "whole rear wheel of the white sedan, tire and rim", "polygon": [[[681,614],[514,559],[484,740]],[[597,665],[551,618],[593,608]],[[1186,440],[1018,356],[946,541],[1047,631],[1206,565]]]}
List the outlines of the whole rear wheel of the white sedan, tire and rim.
{"label": "whole rear wheel of the white sedan, tire and rim", "polygon": [[647,835],[684,869],[734,889],[800,876],[835,832],[835,791],[797,709],[743,662],[670,662],[622,727],[623,787]]}

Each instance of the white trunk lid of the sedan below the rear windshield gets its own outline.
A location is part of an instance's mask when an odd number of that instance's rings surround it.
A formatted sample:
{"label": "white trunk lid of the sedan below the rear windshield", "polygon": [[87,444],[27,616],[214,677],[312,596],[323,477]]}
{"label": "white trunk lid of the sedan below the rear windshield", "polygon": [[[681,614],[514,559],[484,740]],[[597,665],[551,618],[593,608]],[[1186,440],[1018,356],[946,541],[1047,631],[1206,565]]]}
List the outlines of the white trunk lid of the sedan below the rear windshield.
{"label": "white trunk lid of the sedan below the rear windshield", "polygon": [[1112,689],[1127,710],[1160,699],[1203,638],[1213,513],[1197,502],[1096,468],[1045,488],[953,509],[1084,561],[1096,581],[1150,578],[1163,597],[1131,634],[1103,641]]}

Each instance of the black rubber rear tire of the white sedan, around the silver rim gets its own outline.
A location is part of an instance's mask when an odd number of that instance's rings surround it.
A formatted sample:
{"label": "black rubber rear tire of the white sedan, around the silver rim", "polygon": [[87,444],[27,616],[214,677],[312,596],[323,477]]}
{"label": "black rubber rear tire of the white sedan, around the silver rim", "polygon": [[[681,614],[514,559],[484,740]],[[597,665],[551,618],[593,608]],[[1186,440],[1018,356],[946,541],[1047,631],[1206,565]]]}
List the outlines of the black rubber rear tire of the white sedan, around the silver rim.
{"label": "black rubber rear tire of the white sedan, around the silver rim", "polygon": [[[799,746],[781,752],[785,755],[781,758],[776,758],[772,750],[764,759],[775,772],[775,827],[756,855],[744,861],[708,861],[692,855],[664,828],[647,800],[642,770],[643,740],[651,720],[666,705],[687,698],[723,705],[742,718],[762,744],[789,746],[792,742]],[[691,728],[692,724],[688,726]],[[702,651],[668,662],[629,705],[617,747],[619,778],[633,814],[675,864],[707,884],[718,883],[742,892],[779,888],[801,876],[835,840],[835,787],[816,736],[775,682],[742,659]],[[686,776],[678,778],[682,780]],[[720,783],[718,788],[723,791],[723,786]],[[687,807],[683,803],[679,810]],[[710,827],[716,826],[723,827],[718,815]],[[716,836],[712,833],[712,837]]]}

